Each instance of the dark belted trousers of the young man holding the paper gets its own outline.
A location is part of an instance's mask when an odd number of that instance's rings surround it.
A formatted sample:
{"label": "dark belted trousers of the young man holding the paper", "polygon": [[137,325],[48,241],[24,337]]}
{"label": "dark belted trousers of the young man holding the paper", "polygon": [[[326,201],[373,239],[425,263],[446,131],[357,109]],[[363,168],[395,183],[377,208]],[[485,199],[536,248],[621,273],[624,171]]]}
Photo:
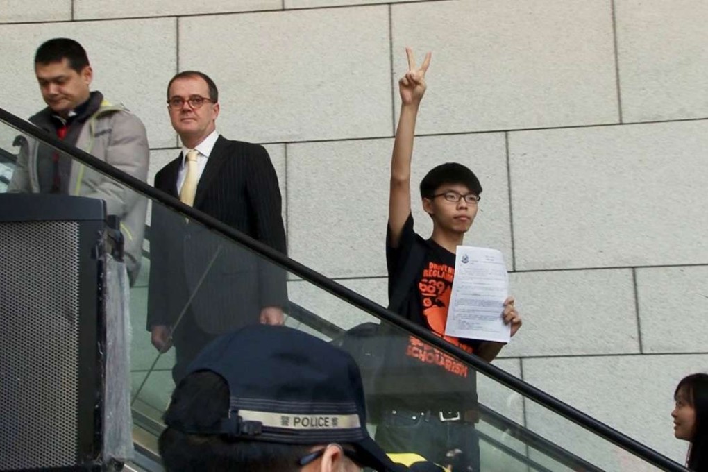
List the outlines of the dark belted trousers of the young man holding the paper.
{"label": "dark belted trousers of the young man holding the paper", "polygon": [[415,453],[452,471],[479,471],[479,437],[474,422],[455,413],[385,408],[375,440],[388,453]]}

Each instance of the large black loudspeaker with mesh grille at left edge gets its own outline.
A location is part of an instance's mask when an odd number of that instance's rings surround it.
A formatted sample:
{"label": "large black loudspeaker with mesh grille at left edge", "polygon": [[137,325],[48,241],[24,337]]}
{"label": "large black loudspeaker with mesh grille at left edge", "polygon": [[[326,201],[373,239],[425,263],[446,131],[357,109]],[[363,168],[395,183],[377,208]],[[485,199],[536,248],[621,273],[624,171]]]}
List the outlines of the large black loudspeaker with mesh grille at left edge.
{"label": "large black loudspeaker with mesh grille at left edge", "polygon": [[0,471],[101,470],[101,200],[0,195]]}

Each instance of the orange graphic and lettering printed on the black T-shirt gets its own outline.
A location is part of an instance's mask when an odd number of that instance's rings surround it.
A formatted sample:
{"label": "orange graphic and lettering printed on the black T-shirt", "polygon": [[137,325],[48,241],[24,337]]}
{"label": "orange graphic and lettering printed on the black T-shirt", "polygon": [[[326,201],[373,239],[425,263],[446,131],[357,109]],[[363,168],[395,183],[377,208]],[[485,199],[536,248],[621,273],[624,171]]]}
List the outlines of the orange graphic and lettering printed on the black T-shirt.
{"label": "orange graphic and lettering printed on the black T-shirt", "polygon": [[[459,338],[445,336],[445,323],[447,323],[447,308],[450,306],[450,296],[452,295],[452,279],[455,278],[455,267],[447,264],[428,263],[428,267],[423,269],[421,281],[418,282],[418,292],[421,294],[423,303],[423,316],[426,317],[428,327],[446,340],[467,352],[472,352],[472,347],[460,343]],[[449,355],[423,343],[421,340],[411,337],[409,347],[406,352],[410,357],[415,357],[421,362],[428,364],[438,364],[448,372],[459,376],[467,376],[467,366],[462,362],[453,359]]]}

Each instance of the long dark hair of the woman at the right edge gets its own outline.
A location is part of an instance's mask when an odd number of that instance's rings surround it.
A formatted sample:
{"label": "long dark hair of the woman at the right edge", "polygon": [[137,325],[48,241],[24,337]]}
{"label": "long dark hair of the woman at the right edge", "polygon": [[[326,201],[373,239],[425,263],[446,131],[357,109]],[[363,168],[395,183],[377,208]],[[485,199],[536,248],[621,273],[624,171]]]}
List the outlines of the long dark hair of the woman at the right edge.
{"label": "long dark hair of the woman at the right edge", "polygon": [[678,383],[674,397],[682,389],[696,413],[687,466],[692,471],[708,472],[708,374],[685,376]]}

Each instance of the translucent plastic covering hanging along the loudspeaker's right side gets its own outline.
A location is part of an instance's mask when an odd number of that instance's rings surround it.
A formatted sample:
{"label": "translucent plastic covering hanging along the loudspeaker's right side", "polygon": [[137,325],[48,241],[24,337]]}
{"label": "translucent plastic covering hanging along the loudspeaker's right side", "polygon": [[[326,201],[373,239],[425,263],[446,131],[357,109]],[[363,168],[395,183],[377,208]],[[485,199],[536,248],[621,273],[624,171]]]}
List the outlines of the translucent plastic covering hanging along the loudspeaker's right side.
{"label": "translucent plastic covering hanging along the loudspeaker's right side", "polygon": [[103,461],[132,459],[130,313],[125,264],[106,255]]}

